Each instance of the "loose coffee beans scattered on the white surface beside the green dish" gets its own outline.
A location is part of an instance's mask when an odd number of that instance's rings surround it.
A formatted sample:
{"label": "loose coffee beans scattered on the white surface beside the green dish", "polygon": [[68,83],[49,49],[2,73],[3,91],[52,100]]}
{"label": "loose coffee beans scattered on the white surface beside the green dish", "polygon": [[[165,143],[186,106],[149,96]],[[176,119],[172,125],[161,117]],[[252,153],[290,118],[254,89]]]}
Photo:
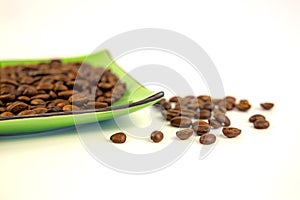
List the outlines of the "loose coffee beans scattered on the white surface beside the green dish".
{"label": "loose coffee beans scattered on the white surface beside the green dish", "polygon": [[[216,142],[216,135],[211,133],[212,129],[222,128],[222,133],[226,138],[235,138],[242,133],[242,130],[230,127],[231,120],[226,115],[227,111],[236,110],[246,112],[251,108],[251,104],[246,99],[236,102],[233,96],[226,96],[223,99],[213,99],[208,95],[200,96],[174,96],[167,101],[165,98],[158,101],[155,105],[165,120],[170,122],[171,126],[180,130],[176,131],[176,136],[180,140],[187,140],[193,134],[199,137],[199,142],[204,145],[210,145]],[[273,103],[262,103],[261,107],[270,110],[274,106]],[[252,115],[249,122],[253,123],[256,129],[266,129],[270,126],[266,118],[261,114]],[[124,134],[124,133],[122,133]],[[116,133],[112,135],[111,141],[119,142],[115,135],[126,138],[126,135]],[[150,135],[150,139],[158,143],[162,141],[164,134],[161,131],[154,131]]]}

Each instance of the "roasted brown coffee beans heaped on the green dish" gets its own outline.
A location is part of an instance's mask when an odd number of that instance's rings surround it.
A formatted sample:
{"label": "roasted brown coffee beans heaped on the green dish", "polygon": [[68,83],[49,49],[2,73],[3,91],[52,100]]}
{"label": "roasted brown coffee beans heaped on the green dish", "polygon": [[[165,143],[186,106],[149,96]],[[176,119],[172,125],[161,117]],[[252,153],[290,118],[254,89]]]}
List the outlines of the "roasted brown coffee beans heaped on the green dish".
{"label": "roasted brown coffee beans heaped on the green dish", "polygon": [[52,60],[0,68],[0,119],[109,107],[126,85],[110,70]]}

